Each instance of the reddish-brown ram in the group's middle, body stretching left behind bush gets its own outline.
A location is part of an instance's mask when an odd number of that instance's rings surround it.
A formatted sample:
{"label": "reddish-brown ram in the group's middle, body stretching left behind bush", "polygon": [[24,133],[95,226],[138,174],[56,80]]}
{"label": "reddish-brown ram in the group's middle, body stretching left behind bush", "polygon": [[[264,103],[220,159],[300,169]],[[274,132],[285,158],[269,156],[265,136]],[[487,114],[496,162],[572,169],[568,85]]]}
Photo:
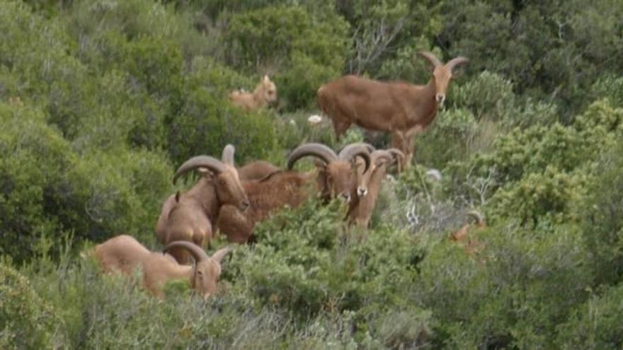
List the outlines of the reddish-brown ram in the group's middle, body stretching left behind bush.
{"label": "reddish-brown ram in the group's middle, body stretching left behind bush", "polygon": [[[299,159],[317,158],[316,170],[299,173],[292,170]],[[253,235],[253,227],[275,211],[290,206],[296,208],[310,196],[339,198],[350,202],[355,188],[355,159],[362,158],[362,167],[370,166],[368,148],[351,144],[336,154],[323,144],[304,144],[297,147],[287,159],[287,170],[271,173],[261,180],[243,182],[251,206],[246,213],[234,206],[223,206],[218,227],[232,242],[245,243]]]}

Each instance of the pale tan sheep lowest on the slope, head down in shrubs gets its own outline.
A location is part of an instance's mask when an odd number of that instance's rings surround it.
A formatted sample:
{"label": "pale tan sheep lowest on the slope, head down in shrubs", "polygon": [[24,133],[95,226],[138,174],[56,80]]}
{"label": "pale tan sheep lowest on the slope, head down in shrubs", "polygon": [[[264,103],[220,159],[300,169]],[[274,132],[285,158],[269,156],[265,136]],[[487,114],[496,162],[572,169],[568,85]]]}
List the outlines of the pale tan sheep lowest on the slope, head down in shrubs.
{"label": "pale tan sheep lowest on the slope, head down in shrubs", "polygon": [[[195,265],[182,265],[166,252],[171,249],[183,249],[195,259]],[[212,257],[185,241],[168,244],[163,252],[151,252],[135,238],[129,235],[118,235],[96,245],[95,257],[105,272],[120,271],[130,275],[139,267],[143,274],[143,284],[155,296],[163,296],[162,287],[166,282],[186,280],[200,296],[207,298],[217,291],[217,283],[221,274],[221,260],[231,249],[217,250]]]}

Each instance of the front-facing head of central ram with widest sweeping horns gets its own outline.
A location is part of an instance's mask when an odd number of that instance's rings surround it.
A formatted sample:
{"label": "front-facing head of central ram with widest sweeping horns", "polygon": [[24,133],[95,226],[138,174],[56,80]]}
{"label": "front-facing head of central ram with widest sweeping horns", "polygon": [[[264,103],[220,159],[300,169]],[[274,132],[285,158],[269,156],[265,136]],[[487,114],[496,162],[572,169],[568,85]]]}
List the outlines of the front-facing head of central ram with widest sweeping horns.
{"label": "front-facing head of central ram with widest sweeping horns", "polygon": [[339,154],[324,144],[304,144],[297,147],[287,160],[287,168],[304,156],[314,156],[318,168],[318,183],[323,199],[339,198],[350,202],[350,192],[355,187],[355,161],[360,157],[365,170],[370,167],[370,153],[363,144],[350,144]]}

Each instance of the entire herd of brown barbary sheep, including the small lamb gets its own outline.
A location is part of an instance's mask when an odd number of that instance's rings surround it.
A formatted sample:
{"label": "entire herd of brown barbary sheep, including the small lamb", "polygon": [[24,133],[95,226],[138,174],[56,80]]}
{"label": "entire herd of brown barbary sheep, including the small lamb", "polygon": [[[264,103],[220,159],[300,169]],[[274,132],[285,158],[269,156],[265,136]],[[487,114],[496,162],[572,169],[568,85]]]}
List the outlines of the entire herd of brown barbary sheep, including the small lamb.
{"label": "entire herd of brown barbary sheep, including the small lamb", "polygon": [[[464,57],[442,64],[430,52],[421,52],[433,68],[425,86],[402,82],[380,82],[358,76],[344,76],[321,86],[316,93],[319,108],[333,121],[336,136],[352,124],[391,134],[391,148],[377,150],[370,144],[355,143],[336,152],[324,144],[308,143],[295,148],[286,160],[286,169],[266,161],[253,161],[239,168],[234,164],[234,146],[224,147],[221,159],[195,156],[185,161],[173,175],[173,183],[186,173],[200,177],[185,193],[171,194],[161,208],[156,237],[165,248],[151,252],[129,235],[97,245],[94,255],[105,272],[131,274],[142,271],[143,284],[156,296],[167,281],[186,280],[203,297],[217,291],[222,258],[230,247],[205,253],[215,233],[232,243],[248,243],[256,223],[285,206],[296,208],[309,197],[322,202],[339,199],[348,205],[346,223],[367,227],[388,169],[401,171],[411,163],[413,136],[433,121],[445,100],[452,69],[467,62]],[[277,100],[277,89],[264,76],[253,93],[229,94],[233,105],[252,110]],[[297,161],[311,157],[315,169],[293,170]],[[484,221],[477,213],[478,226]],[[452,235],[464,240],[465,226]],[[474,250],[471,244],[466,249]]]}

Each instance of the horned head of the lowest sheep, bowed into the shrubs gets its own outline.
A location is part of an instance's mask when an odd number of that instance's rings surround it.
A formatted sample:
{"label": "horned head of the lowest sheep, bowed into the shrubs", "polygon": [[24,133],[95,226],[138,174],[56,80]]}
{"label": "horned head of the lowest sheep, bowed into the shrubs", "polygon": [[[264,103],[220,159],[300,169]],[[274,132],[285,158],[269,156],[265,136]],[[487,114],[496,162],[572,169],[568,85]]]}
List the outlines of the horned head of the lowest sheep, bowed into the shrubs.
{"label": "horned head of the lowest sheep, bowed into the shrubs", "polygon": [[190,252],[195,259],[195,266],[192,270],[192,278],[190,284],[193,289],[203,298],[207,298],[217,292],[217,284],[221,275],[221,261],[232,250],[229,247],[217,250],[217,252],[208,257],[207,254],[197,245],[178,240],[167,245],[163,252],[167,252],[171,248],[183,248]]}

